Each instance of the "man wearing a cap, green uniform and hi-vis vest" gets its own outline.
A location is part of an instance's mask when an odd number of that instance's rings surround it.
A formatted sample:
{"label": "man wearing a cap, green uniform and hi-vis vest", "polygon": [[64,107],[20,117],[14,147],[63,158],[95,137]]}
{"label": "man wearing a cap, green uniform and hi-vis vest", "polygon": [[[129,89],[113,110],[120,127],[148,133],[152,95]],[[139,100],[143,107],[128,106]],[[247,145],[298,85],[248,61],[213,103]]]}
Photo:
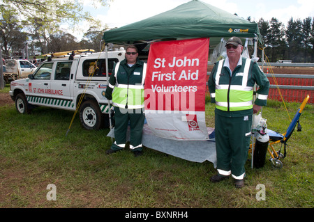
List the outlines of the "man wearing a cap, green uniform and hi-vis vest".
{"label": "man wearing a cap, green uniform and hi-vis vest", "polygon": [[[227,40],[227,58],[218,61],[209,77],[211,102],[216,103],[215,139],[218,173],[211,182],[230,175],[234,186],[244,187],[253,113],[267,104],[269,80],[256,62],[241,56],[243,45],[238,37]],[[256,100],[253,88],[257,84]]]}

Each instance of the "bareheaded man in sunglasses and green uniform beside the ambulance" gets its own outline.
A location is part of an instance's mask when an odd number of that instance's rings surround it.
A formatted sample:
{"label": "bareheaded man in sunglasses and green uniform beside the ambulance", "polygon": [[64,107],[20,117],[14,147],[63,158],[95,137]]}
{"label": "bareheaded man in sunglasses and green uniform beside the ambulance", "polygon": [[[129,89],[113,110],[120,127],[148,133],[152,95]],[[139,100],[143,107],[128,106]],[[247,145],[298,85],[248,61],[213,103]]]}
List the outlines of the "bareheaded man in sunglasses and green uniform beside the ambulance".
{"label": "bareheaded man in sunglasses and green uniform beside the ambulance", "polygon": [[137,59],[134,45],[126,48],[126,59],[117,63],[110,76],[105,97],[114,106],[114,138],[107,154],[122,150],[126,145],[126,132],[130,123],[130,149],[135,157],[142,154],[144,126],[144,80],[146,63]]}

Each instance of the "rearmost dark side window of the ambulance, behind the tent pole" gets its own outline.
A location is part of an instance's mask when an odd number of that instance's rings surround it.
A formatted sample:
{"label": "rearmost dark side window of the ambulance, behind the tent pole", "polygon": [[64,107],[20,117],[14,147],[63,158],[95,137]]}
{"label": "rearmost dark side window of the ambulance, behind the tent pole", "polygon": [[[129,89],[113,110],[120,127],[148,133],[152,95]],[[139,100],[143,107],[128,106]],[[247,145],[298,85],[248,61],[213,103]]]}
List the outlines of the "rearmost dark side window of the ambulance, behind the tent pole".
{"label": "rearmost dark side window of the ambulance, behind the tent pole", "polygon": [[[108,76],[112,74],[112,69],[114,63],[117,63],[119,60],[117,58],[109,58],[108,59]],[[97,62],[97,65],[96,65]],[[105,59],[99,59],[98,61],[94,60],[86,60],[83,63],[83,76],[89,77],[89,74],[94,77],[106,77],[106,61]]]}

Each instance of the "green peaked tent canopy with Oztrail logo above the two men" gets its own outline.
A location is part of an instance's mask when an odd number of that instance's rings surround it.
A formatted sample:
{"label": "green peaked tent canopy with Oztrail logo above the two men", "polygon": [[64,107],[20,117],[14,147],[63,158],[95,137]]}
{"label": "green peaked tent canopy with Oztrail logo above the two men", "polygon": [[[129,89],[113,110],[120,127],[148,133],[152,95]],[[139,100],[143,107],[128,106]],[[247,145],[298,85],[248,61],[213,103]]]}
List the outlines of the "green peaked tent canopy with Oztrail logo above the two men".
{"label": "green peaked tent canopy with Oztrail logo above the two men", "polygon": [[177,8],[118,29],[105,31],[106,43],[130,44],[158,39],[231,37],[255,38],[262,44],[256,23],[211,6],[189,1]]}

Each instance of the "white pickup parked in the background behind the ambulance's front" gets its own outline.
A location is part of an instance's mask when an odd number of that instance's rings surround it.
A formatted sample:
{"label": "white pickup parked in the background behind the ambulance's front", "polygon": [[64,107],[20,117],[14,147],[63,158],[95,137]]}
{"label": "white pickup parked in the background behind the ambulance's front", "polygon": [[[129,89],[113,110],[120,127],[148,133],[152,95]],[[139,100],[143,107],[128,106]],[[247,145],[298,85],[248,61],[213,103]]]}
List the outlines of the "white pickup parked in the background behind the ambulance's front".
{"label": "white pickup parked in the background behind the ambulance's front", "polygon": [[22,79],[35,72],[37,67],[27,60],[23,59],[7,59],[6,72],[3,72],[3,77],[6,83],[15,79]]}

